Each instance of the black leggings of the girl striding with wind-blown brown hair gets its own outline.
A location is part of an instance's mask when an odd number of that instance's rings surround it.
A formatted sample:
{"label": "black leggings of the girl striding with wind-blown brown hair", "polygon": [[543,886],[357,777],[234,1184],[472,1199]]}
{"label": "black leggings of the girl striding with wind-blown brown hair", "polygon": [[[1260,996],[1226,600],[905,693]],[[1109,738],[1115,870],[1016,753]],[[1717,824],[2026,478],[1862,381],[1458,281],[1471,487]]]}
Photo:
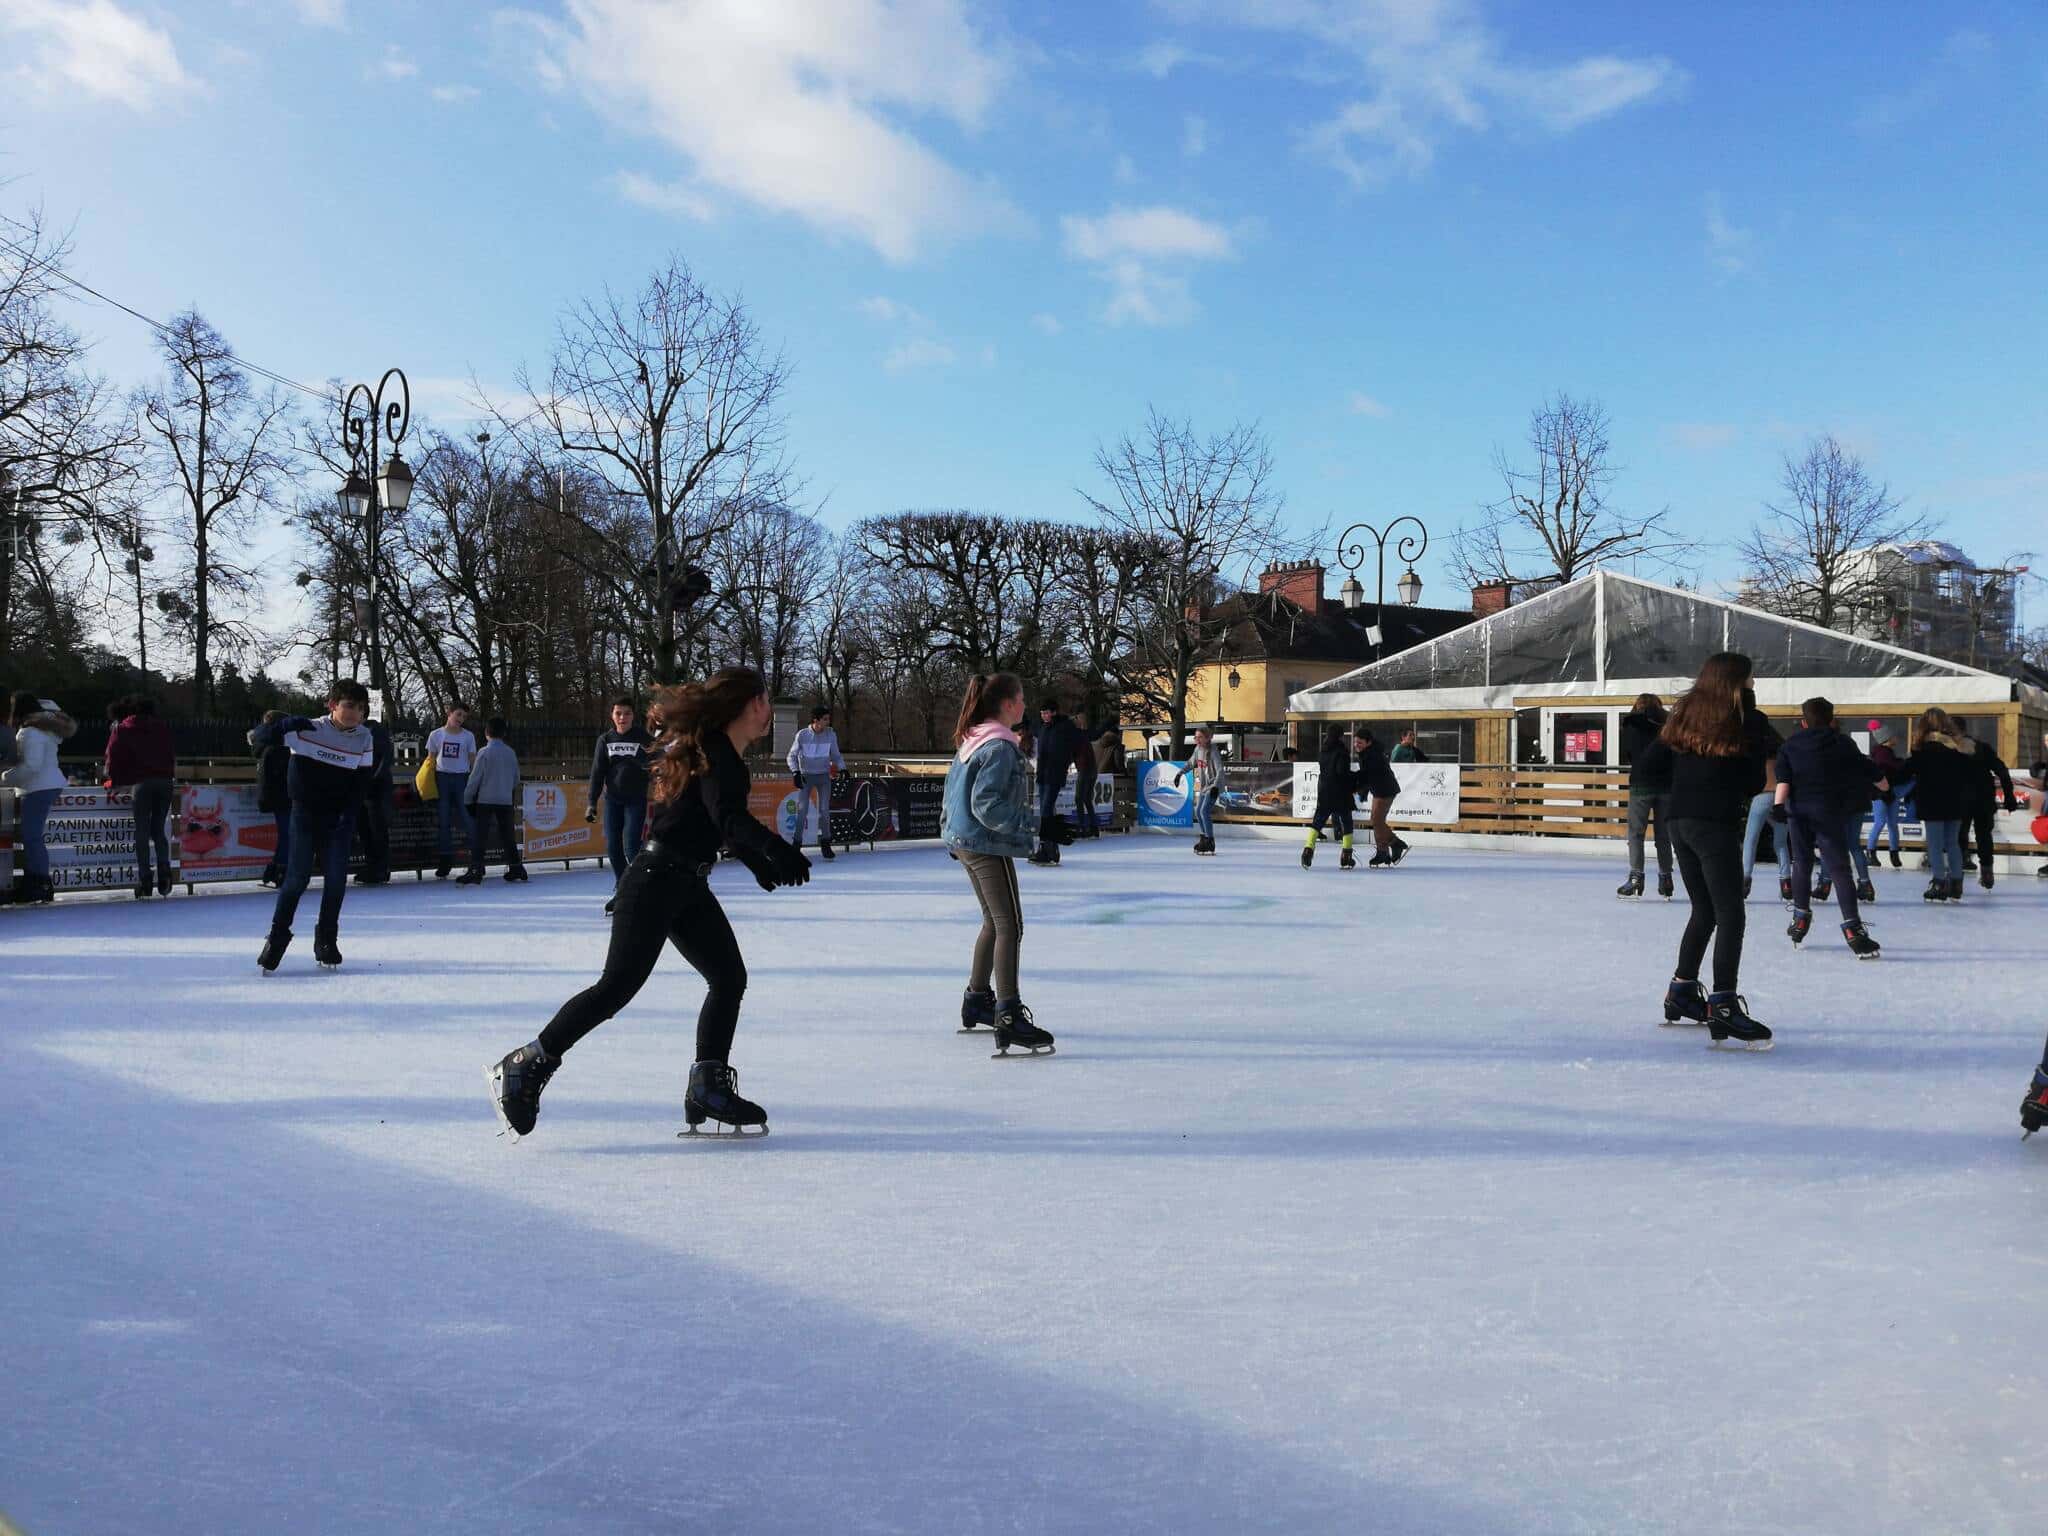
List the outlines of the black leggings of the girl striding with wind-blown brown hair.
{"label": "black leggings of the girl striding with wind-blown brown hair", "polygon": [[696,1012],[696,1059],[725,1061],[739,1024],[739,999],[748,991],[739,940],[702,874],[645,852],[618,883],[604,975],[561,1006],[541,1030],[541,1049],[559,1057],[633,1001],[662,958],[662,940],[674,944],[709,985]]}

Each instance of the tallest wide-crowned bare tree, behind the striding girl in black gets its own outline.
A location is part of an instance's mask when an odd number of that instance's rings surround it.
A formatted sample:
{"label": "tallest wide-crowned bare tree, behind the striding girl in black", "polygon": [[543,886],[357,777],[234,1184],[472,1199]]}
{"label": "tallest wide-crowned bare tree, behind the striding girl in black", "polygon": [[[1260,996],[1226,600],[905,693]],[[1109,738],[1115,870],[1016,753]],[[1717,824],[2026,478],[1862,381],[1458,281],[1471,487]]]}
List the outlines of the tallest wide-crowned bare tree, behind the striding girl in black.
{"label": "tallest wide-crowned bare tree, behind the striding girl in black", "polygon": [[788,498],[782,387],[737,299],[709,293],[672,256],[641,293],[578,305],[557,328],[545,385],[520,371],[528,440],[580,459],[641,512],[645,539],[614,520],[590,522],[602,561],[629,571],[621,596],[649,635],[662,678],[674,678],[688,633],[686,578],[739,510]]}

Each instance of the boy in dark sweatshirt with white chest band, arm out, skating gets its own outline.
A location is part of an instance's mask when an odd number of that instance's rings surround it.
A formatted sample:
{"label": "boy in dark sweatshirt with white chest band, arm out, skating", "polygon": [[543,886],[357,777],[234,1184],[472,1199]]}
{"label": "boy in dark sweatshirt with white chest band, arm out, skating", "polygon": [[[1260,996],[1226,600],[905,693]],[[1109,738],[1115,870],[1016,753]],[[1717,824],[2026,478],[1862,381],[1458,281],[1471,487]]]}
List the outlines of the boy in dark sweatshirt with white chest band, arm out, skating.
{"label": "boy in dark sweatshirt with white chest band, arm out, skating", "polygon": [[371,784],[377,743],[362,717],[371,694],[360,682],[342,678],[328,690],[326,717],[311,721],[285,715],[256,727],[256,748],[283,743],[291,752],[291,862],[270,913],[270,938],[264,940],[256,965],[264,975],[276,971],[291,944],[291,920],[299,897],[313,881],[313,858],[319,858],[319,924],[313,928],[313,958],[324,971],[342,963],[338,946],[342,928],[342,897],[348,895],[348,844],[354,834],[356,809]]}

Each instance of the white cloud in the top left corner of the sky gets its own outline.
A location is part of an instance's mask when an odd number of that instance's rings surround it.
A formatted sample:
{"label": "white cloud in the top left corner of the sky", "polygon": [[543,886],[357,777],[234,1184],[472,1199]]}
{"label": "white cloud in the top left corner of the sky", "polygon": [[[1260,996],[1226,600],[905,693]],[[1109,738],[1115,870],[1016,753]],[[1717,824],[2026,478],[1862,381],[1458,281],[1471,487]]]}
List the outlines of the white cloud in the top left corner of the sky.
{"label": "white cloud in the top left corner of the sky", "polygon": [[88,96],[147,111],[199,90],[170,33],[113,0],[0,0],[0,80],[37,96]]}

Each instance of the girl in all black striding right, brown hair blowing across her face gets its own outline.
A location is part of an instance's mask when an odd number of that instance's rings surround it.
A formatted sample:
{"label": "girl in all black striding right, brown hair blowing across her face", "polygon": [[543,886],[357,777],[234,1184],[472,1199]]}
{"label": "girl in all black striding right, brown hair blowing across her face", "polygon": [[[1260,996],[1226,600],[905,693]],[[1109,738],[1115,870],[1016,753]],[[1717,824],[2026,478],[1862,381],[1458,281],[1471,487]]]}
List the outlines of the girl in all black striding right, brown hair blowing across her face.
{"label": "girl in all black striding right, brown hair blowing across her face", "polygon": [[727,668],[709,682],[655,694],[649,713],[657,737],[649,750],[647,842],[618,883],[604,975],[565,1001],[539,1040],[522,1044],[487,1073],[498,1118],[514,1139],[532,1130],[541,1090],[563,1053],[633,1001],[653,975],[662,940],[672,942],[709,987],[696,1014],[696,1065],[682,1102],[690,1133],[705,1120],[741,1133],[743,1126],[768,1133],[768,1112],[739,1098],[737,1077],[727,1065],[748,967],[707,877],[725,848],[764,891],[811,879],[811,860],[748,811],[750,780],[739,752],[764,735],[772,719],[768,686],[745,668]]}

